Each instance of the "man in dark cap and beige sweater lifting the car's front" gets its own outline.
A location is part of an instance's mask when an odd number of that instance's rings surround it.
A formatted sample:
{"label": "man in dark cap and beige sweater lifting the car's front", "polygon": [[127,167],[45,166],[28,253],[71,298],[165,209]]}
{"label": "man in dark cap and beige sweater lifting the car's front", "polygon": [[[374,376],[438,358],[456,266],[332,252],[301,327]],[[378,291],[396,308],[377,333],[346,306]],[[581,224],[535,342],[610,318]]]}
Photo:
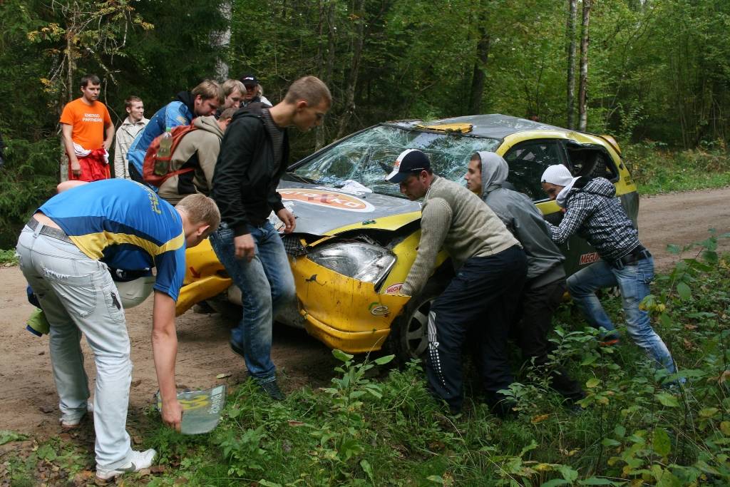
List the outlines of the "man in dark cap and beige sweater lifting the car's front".
{"label": "man in dark cap and beige sweater lifting the car's front", "polygon": [[479,196],[434,175],[420,150],[404,150],[385,179],[399,183],[408,199],[423,198],[418,253],[401,294],[417,296],[423,290],[442,247],[456,269],[429,312],[431,390],[452,413],[461,411],[461,353],[469,329],[477,326],[487,402],[493,413],[506,415],[511,404],[498,391],[512,383],[507,334],[527,272],[520,243]]}

